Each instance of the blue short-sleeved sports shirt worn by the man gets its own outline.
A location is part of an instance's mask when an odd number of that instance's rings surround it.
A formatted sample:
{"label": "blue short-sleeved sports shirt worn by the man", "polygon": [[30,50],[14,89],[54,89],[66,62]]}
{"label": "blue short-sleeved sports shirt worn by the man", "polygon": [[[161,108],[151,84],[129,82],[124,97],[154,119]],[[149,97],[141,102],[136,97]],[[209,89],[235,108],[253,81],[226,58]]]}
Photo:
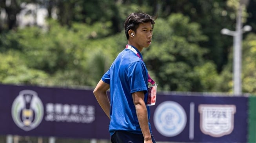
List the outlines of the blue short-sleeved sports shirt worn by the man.
{"label": "blue short-sleeved sports shirt worn by the man", "polygon": [[[138,50],[137,52],[140,54]],[[142,57],[141,54],[140,57]],[[144,91],[144,102],[147,102],[148,71],[140,57],[132,50],[123,50],[102,77],[103,82],[110,84],[109,132],[111,136],[116,130],[142,134],[132,97],[132,93]],[[147,107],[147,113],[149,119],[149,107]],[[150,123],[149,129],[151,131]]]}

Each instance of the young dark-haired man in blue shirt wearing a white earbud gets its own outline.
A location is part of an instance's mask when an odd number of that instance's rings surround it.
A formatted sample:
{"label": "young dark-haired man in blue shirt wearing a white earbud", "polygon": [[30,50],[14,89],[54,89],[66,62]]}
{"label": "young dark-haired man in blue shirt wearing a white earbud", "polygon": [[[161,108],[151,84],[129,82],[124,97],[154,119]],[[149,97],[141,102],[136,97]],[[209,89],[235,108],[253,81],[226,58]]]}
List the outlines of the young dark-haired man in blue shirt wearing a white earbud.
{"label": "young dark-haired man in blue shirt wearing a white earbud", "polygon": [[[149,107],[146,106],[151,78],[140,53],[151,44],[154,24],[154,18],[145,13],[131,13],[127,17],[124,29],[128,44],[93,91],[110,118],[112,143],[156,142],[149,123]],[[109,88],[111,102],[106,92]]]}

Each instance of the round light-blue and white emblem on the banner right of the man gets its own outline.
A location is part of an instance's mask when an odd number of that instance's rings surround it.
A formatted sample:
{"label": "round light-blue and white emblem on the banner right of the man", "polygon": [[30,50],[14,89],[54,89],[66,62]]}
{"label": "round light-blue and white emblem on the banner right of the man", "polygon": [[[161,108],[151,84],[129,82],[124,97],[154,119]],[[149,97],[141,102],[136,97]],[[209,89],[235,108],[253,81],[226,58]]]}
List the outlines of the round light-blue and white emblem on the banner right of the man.
{"label": "round light-blue and white emblem on the banner right of the man", "polygon": [[186,123],[186,113],[177,102],[162,102],[154,112],[154,125],[163,136],[172,137],[180,134]]}

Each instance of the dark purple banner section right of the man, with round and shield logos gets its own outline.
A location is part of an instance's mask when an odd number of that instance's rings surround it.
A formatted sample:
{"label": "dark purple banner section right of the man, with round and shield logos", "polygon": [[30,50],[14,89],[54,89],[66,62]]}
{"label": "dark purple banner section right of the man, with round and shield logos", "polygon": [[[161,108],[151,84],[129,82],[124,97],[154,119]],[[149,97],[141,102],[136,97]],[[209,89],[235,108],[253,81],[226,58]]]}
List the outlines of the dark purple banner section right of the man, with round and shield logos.
{"label": "dark purple banner section right of the man, with round and shield logos", "polygon": [[151,108],[157,141],[246,143],[247,97],[164,95]]}

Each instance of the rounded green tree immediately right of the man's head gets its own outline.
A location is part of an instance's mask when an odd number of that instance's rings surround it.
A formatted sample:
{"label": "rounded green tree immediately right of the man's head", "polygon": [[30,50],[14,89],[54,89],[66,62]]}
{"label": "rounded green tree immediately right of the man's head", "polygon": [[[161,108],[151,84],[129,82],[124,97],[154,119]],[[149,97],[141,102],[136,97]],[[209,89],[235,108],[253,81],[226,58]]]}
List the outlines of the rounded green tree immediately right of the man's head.
{"label": "rounded green tree immediately right of the man's head", "polygon": [[207,53],[198,42],[207,40],[200,25],[187,16],[172,14],[158,19],[153,31],[153,44],[145,53],[145,62],[152,69],[160,87],[165,90],[202,91],[195,66],[202,66]]}

